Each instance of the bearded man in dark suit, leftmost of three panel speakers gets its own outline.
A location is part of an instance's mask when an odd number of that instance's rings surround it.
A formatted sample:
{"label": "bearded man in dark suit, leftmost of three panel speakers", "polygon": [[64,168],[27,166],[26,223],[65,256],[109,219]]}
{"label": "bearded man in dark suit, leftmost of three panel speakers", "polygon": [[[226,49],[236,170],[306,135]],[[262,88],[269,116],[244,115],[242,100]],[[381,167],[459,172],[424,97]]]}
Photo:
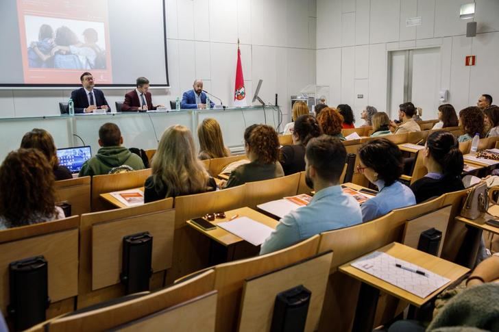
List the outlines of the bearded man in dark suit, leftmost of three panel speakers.
{"label": "bearded man in dark suit, leftmost of three panel speakers", "polygon": [[83,88],[71,92],[71,99],[75,105],[75,113],[91,113],[97,108],[109,110],[108,101],[104,97],[104,92],[94,89],[94,79],[92,74],[86,72],[80,76]]}

